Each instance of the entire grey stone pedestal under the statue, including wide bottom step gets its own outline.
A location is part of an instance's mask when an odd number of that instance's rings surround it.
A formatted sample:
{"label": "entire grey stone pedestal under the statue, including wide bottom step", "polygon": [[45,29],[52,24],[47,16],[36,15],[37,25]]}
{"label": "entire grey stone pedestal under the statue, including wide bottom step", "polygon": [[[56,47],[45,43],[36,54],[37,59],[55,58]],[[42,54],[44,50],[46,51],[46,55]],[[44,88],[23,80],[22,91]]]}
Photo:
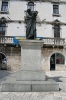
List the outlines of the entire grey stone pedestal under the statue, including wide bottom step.
{"label": "entire grey stone pedestal under the statue, including wide bottom step", "polygon": [[46,80],[45,72],[41,70],[41,47],[43,41],[22,40],[21,68],[16,79],[6,80],[2,91],[8,92],[47,92],[58,91],[59,84],[54,80]]}

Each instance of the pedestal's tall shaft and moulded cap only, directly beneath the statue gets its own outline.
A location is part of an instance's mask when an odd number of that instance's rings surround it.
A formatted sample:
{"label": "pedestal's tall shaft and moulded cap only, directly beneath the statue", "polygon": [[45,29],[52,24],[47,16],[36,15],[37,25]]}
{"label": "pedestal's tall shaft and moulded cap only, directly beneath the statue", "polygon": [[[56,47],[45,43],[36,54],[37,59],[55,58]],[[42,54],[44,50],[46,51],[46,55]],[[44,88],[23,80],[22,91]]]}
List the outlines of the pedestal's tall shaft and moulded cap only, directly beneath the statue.
{"label": "pedestal's tall shaft and moulded cap only, directly beneath the statue", "polygon": [[41,70],[41,47],[43,41],[24,40],[21,45],[21,70]]}

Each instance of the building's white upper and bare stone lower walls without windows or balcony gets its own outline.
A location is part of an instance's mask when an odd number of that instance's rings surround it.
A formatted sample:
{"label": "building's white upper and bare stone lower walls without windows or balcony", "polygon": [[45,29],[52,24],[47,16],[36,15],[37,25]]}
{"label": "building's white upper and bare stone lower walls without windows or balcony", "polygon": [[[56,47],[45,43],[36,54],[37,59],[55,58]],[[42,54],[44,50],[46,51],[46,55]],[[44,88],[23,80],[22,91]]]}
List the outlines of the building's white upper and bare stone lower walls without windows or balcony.
{"label": "building's white upper and bare stone lower walls without windows or balcony", "polygon": [[[0,0],[0,19],[4,17],[8,21],[6,23],[6,32],[5,36],[26,36],[26,23],[24,17],[26,16],[25,10],[27,10],[28,1],[19,1],[19,0],[8,0],[9,1],[9,13],[1,14],[1,4]],[[44,1],[44,0],[43,0]],[[46,1],[46,0],[45,0]],[[60,38],[66,38],[66,2],[58,3],[59,4],[59,15],[53,16],[53,2],[39,2],[35,1],[34,10],[38,11],[37,21],[41,22],[44,20],[44,23],[37,23],[37,36],[38,37],[54,37],[54,25],[50,24],[55,20],[58,20],[59,23],[65,23],[60,25]],[[53,0],[51,0],[53,1]],[[60,0],[63,1],[63,0]],[[65,1],[65,0],[64,0]],[[48,9],[49,8],[49,9]],[[21,21],[21,22],[20,22]],[[47,23],[49,22],[49,23]],[[2,52],[2,51],[1,51]],[[61,49],[48,49],[42,48],[42,70],[50,70],[50,57],[53,53],[60,52],[65,56],[66,60],[66,51]],[[7,57],[7,69],[8,70],[19,70],[21,64],[21,51],[16,47],[6,46],[6,52],[4,52]],[[65,62],[66,65],[66,62]],[[56,65],[56,70],[65,69],[65,65]]]}

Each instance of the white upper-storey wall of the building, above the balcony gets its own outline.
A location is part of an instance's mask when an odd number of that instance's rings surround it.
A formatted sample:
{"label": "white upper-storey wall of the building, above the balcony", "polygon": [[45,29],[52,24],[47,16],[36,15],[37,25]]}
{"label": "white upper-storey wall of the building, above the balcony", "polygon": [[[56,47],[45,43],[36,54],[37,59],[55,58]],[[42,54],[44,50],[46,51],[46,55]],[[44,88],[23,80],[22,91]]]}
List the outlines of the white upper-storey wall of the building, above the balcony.
{"label": "white upper-storey wall of the building, above the balcony", "polygon": [[[48,0],[49,1],[49,0]],[[34,2],[34,10],[38,11],[37,21],[43,24],[36,24],[37,37],[54,37],[54,25],[47,24],[51,23],[56,19],[61,23],[66,23],[66,3],[59,3],[59,17],[53,16],[53,4],[52,2]],[[0,1],[0,10],[1,10]],[[6,20],[13,21],[6,23],[6,36],[26,36],[26,23],[24,17],[26,16],[25,11],[27,10],[28,1],[10,0],[9,1],[9,13],[1,14],[0,18],[4,17]],[[49,8],[49,9],[48,9]],[[0,11],[1,12],[1,11]],[[49,15],[49,16],[48,16]],[[21,21],[21,23],[19,23]],[[60,25],[60,37],[66,37],[66,25]]]}

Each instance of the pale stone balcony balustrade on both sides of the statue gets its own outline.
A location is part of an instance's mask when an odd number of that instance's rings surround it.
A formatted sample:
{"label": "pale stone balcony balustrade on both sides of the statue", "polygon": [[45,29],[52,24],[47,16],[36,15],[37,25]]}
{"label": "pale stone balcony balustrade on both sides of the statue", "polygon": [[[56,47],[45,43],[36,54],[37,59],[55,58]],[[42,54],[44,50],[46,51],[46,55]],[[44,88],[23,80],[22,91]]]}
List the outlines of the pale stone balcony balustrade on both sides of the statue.
{"label": "pale stone balcony balustrade on both sides of the statue", "polygon": [[[66,39],[64,38],[42,37],[42,39],[44,41],[44,45],[50,45],[50,46],[51,45],[54,45],[54,46],[65,46],[66,45]],[[14,36],[0,36],[0,44],[13,44],[14,43],[13,40],[14,40]]]}

